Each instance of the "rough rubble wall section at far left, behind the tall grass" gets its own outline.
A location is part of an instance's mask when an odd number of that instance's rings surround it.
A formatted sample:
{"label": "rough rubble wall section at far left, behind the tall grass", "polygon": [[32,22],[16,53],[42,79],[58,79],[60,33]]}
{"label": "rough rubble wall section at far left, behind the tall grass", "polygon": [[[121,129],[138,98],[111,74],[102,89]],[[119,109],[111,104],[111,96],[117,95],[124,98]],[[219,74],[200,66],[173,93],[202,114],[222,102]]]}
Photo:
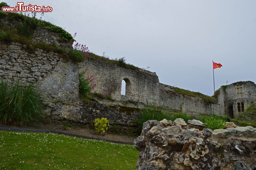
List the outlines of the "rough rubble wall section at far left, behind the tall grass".
{"label": "rough rubble wall section at far left, behind the tall grass", "polygon": [[36,83],[46,104],[46,115],[66,118],[76,112],[78,94],[78,65],[54,52],[36,49],[28,52],[20,43],[0,42],[0,77],[12,81],[15,77]]}

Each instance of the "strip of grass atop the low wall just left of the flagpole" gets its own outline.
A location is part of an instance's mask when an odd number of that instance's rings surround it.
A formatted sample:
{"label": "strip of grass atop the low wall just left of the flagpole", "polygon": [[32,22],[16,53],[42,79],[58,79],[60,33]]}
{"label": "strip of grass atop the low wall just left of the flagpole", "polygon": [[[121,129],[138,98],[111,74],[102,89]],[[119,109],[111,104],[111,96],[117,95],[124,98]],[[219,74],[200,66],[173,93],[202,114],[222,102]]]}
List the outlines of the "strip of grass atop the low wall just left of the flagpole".
{"label": "strip of grass atop the low wall just left of the flagpole", "polygon": [[201,99],[204,99],[206,103],[217,103],[217,99],[215,99],[214,97],[207,96],[207,95],[204,95],[199,92],[191,92],[189,90],[185,90],[185,89],[178,88],[178,87],[170,87],[170,88],[174,89],[174,91],[179,94],[192,96],[192,97],[199,97]]}

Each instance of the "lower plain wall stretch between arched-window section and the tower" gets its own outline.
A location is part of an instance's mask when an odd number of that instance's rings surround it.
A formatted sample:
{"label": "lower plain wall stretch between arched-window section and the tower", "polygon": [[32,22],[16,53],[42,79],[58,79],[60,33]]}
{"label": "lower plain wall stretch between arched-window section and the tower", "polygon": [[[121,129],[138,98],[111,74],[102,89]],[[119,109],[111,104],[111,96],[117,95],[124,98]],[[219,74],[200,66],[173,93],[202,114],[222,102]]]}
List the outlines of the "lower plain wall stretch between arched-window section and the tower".
{"label": "lower plain wall stretch between arched-window section and the tower", "polygon": [[190,115],[216,114],[218,105],[199,97],[175,93],[171,86],[160,83],[160,99],[165,107],[180,110]]}

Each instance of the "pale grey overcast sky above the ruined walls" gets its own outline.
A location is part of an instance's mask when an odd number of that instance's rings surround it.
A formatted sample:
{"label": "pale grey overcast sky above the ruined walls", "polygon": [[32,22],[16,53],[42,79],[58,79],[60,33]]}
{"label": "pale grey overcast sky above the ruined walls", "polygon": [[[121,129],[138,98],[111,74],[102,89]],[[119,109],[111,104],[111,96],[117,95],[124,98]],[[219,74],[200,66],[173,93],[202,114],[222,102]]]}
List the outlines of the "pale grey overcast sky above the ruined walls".
{"label": "pale grey overcast sky above the ruined walls", "polygon": [[77,33],[90,52],[150,67],[160,83],[212,96],[212,61],[223,65],[214,69],[215,90],[256,82],[254,0],[24,1],[29,3],[51,6],[43,19]]}

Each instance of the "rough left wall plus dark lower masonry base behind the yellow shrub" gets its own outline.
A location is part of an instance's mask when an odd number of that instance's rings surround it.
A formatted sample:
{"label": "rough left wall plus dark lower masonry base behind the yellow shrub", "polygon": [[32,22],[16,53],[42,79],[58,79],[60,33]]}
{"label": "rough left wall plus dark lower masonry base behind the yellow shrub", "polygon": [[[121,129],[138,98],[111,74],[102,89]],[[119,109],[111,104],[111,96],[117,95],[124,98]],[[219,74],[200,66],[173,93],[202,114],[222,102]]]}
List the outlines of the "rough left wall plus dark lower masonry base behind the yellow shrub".
{"label": "rough left wall plus dark lower masonry base behind the yellow shrub", "polygon": [[69,120],[93,125],[95,118],[108,118],[110,127],[120,133],[135,132],[137,108],[97,102],[85,103],[79,97],[79,67],[68,56],[36,49],[28,52],[20,43],[0,42],[0,77],[12,81],[36,83],[45,104],[45,115],[55,120]]}

